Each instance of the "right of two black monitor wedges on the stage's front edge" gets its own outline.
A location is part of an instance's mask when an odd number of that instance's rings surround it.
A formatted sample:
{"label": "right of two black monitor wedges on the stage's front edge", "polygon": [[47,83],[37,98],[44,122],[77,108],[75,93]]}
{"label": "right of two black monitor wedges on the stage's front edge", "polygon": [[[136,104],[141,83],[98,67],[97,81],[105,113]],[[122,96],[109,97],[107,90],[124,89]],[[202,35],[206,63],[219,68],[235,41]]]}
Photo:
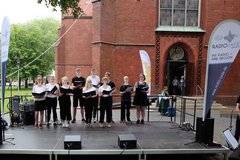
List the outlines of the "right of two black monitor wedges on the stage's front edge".
{"label": "right of two black monitor wedges on the stage's front edge", "polygon": [[118,146],[121,149],[137,148],[137,138],[133,134],[118,135]]}

